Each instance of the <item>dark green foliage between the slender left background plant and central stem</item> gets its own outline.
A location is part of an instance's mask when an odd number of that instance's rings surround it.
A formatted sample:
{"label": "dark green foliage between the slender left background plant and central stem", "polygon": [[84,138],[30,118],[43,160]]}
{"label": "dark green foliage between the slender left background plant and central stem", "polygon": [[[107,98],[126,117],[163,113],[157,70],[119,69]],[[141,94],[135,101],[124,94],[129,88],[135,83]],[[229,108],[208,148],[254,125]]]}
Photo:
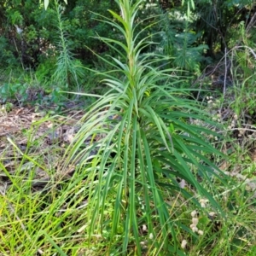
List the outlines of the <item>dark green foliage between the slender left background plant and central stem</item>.
{"label": "dark green foliage between the slender left background plant and central stem", "polygon": [[108,9],[114,8],[116,6],[113,1],[100,1],[96,4],[90,0],[79,0],[76,4],[68,3],[65,12],[67,17],[65,30],[69,35],[74,52],[79,55],[82,61],[91,64],[94,60],[94,56],[87,48],[96,51],[96,53],[108,51],[108,48],[95,37],[97,34],[102,37],[113,36],[115,32],[113,27],[96,20],[96,13],[109,17]]}

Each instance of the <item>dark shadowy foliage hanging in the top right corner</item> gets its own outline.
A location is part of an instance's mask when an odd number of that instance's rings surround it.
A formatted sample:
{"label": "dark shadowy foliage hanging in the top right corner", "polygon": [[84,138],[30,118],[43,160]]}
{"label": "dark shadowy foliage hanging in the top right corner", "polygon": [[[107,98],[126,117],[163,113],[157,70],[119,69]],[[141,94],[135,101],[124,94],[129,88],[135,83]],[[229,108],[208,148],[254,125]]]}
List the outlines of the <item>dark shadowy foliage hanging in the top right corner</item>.
{"label": "dark shadowy foliage hanging in the top right corner", "polygon": [[202,33],[201,42],[208,45],[209,55],[224,52],[234,35],[233,29],[238,29],[241,20],[247,22],[253,17],[253,8],[251,0],[205,0],[197,4],[195,28]]}

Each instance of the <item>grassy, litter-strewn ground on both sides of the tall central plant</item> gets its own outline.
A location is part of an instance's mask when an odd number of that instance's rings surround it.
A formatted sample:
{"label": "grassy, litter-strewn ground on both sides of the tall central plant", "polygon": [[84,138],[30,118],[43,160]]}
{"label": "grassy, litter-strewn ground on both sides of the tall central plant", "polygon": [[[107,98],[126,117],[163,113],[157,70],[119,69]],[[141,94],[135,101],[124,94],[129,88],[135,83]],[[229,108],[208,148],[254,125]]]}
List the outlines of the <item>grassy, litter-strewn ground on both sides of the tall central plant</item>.
{"label": "grassy, litter-strewn ground on both sides of the tall central plant", "polygon": [[[226,188],[218,188],[216,183],[227,219],[219,217],[208,203],[206,211],[201,211],[189,201],[166,196],[167,201],[175,201],[174,219],[183,220],[188,229],[193,221],[198,222],[196,227],[201,230],[201,237],[196,239],[180,230],[180,247],[187,255],[253,255],[256,157],[252,121],[248,119],[248,124],[242,122],[243,128],[238,127],[236,113],[228,108],[232,99],[226,97],[223,102],[221,97],[205,96],[204,100],[208,102],[206,111],[227,128],[223,131],[224,141],[212,138],[212,144],[229,155],[228,160],[216,161],[233,183]],[[219,112],[221,105],[224,107]],[[104,252],[108,247],[107,234],[95,234],[89,243],[85,231],[88,183],[84,177],[75,177],[74,166],[63,165],[65,149],[81,127],[84,110],[75,108],[63,114],[54,114],[49,108],[35,110],[18,105],[5,109],[3,105],[1,112],[1,252],[25,255],[29,250],[29,255],[52,255],[58,248],[65,255]],[[110,203],[109,212],[111,208]],[[146,236],[147,227],[142,225],[140,232]],[[147,239],[142,243],[147,248]]]}

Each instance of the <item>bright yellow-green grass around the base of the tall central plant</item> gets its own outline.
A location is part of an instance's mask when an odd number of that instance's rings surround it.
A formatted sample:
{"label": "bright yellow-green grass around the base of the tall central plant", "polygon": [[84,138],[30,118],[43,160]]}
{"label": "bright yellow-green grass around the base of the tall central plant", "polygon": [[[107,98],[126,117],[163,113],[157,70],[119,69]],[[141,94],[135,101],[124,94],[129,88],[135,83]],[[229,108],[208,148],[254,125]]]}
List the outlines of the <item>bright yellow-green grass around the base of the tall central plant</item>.
{"label": "bright yellow-green grass around the base of the tall central plant", "polygon": [[[29,137],[30,134],[28,133],[27,136]],[[67,168],[62,169],[63,160],[58,154],[61,148],[54,144],[38,152],[38,143],[40,140],[30,143],[25,155],[21,155],[20,151],[9,143],[7,149],[1,154],[2,173],[9,175],[11,181],[8,185],[2,181],[1,185],[1,255],[36,255],[37,253],[38,255],[43,255],[43,253],[44,255],[99,255],[106,253],[111,225],[102,234],[93,234],[89,240],[89,224],[84,221],[88,213],[86,208],[88,182],[84,180],[84,177],[75,175],[63,181],[61,177],[67,172]],[[242,150],[245,148],[241,148],[241,152]],[[247,160],[246,164],[242,164],[236,161],[238,157],[236,151],[232,154],[235,155],[230,157],[230,165],[227,166],[229,170],[239,170],[239,173],[253,177],[253,166],[255,167],[253,160]],[[6,159],[12,161],[15,172],[10,172],[8,167],[4,167],[3,163]],[[27,163],[32,163],[32,165],[26,165]],[[45,189],[32,186],[38,166],[43,167],[41,172],[51,175],[50,182]],[[53,172],[49,166],[56,166],[57,172]],[[228,172],[225,169],[224,171]],[[57,177],[57,173],[62,173],[62,175]],[[2,179],[3,177],[2,174]],[[216,196],[220,207],[226,213],[225,219],[218,214],[209,218],[208,215],[215,210],[210,204],[207,204],[206,208],[195,207],[191,201],[184,200],[181,195],[173,196],[166,193],[165,200],[171,206],[170,217],[177,229],[177,241],[180,244],[183,240],[187,241],[186,247],[180,248],[180,251],[188,255],[198,255],[198,253],[202,255],[253,255],[253,244],[256,239],[254,231],[255,191],[250,191],[246,184],[247,181],[239,177],[234,176],[232,180],[233,183],[225,187],[213,181],[218,191]],[[204,186],[203,183],[202,186]],[[114,196],[110,195],[106,203],[106,216],[113,214]],[[203,231],[201,236],[196,236],[189,229],[189,225],[192,224],[191,212],[195,210],[198,212],[196,216],[199,219],[197,227]],[[143,232],[147,234],[147,228],[142,226],[140,229],[142,234]],[[122,232],[120,228],[120,236],[115,241],[116,247],[122,243]],[[164,240],[160,231],[156,237],[159,242]],[[147,236],[142,241],[143,244],[147,246]],[[180,247],[180,245],[177,246]],[[160,248],[161,245],[159,249],[151,247],[148,255],[161,255]],[[130,251],[131,255],[134,255],[131,247]],[[118,254],[116,252],[116,255]]]}

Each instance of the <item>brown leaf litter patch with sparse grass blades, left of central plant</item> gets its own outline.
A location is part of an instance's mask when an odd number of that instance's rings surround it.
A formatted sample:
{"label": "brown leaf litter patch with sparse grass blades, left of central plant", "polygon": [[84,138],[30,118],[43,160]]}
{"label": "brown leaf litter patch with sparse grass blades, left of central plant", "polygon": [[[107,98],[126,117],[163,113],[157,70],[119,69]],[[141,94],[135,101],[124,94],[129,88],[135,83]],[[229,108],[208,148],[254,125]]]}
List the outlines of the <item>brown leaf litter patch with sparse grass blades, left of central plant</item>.
{"label": "brown leaf litter patch with sparse grass blades, left of central plant", "polygon": [[[73,172],[70,166],[63,171],[59,166],[63,164],[65,148],[79,131],[83,115],[83,110],[72,109],[64,116],[49,117],[31,107],[0,112],[0,162],[3,164],[0,185],[8,188],[10,177],[17,172],[24,182],[32,178],[32,187],[44,187],[53,176],[63,177]],[[26,155],[28,157],[24,157]],[[32,177],[29,176],[31,170]]]}

